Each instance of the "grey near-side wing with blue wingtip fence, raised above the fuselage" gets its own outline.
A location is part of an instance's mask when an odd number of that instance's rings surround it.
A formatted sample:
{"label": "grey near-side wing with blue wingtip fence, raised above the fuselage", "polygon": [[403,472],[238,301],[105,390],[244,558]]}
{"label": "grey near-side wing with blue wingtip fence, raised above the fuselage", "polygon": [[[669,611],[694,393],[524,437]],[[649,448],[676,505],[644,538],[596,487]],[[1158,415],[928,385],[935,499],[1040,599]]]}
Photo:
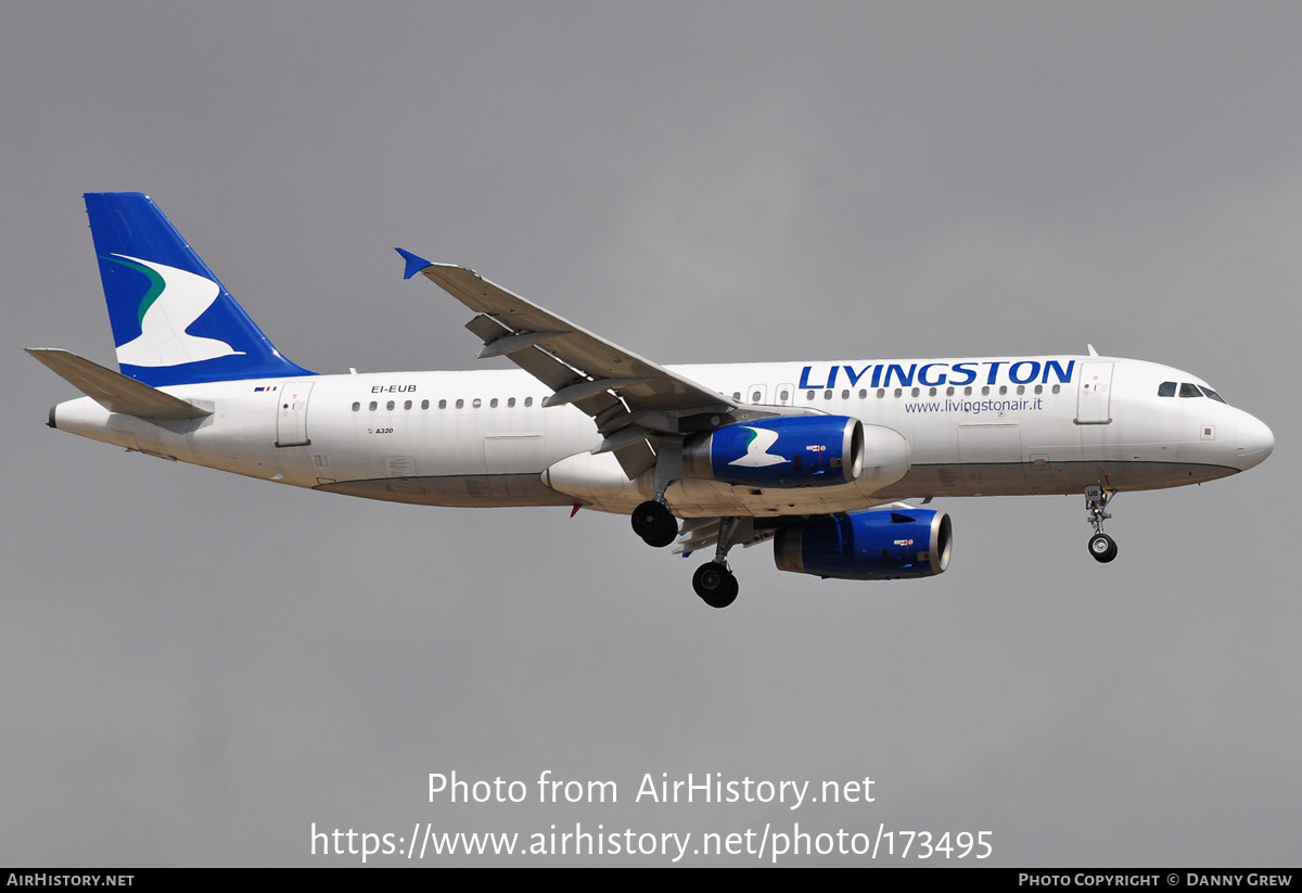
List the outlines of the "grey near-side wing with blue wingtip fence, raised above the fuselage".
{"label": "grey near-side wing with blue wingtip fence, raised above the fuselage", "polygon": [[677,433],[685,415],[728,413],[729,397],[643,359],[490,282],[473,269],[436,264],[397,249],[406,279],[422,273],[478,315],[466,328],[484,342],[480,358],[506,357],[552,389],[547,406],[573,404],[605,437],[629,478],[655,463],[647,441]]}

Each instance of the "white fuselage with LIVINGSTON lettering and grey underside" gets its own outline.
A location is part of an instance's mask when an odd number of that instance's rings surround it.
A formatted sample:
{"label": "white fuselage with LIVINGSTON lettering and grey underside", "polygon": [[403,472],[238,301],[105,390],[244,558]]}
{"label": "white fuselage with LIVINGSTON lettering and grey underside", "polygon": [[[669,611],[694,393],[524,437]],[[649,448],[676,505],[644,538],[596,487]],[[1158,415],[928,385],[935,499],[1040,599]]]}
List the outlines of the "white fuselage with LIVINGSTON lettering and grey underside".
{"label": "white fuselage with LIVINGSTON lettering and grey underside", "polygon": [[[1269,430],[1242,410],[1206,396],[1160,397],[1163,383],[1204,383],[1133,359],[673,371],[743,404],[853,417],[884,435],[868,437],[855,483],[754,488],[678,480],[665,496],[680,517],[825,514],[902,497],[1078,493],[1092,484],[1176,487],[1251,467],[1273,444]],[[612,454],[592,456],[602,443],[592,419],[573,406],[544,407],[551,392],[519,370],[318,375],[163,391],[212,415],[148,420],[109,413],[86,397],[56,406],[51,423],[182,462],[401,502],[581,504],[626,513],[654,495],[654,471],[630,482]]]}

